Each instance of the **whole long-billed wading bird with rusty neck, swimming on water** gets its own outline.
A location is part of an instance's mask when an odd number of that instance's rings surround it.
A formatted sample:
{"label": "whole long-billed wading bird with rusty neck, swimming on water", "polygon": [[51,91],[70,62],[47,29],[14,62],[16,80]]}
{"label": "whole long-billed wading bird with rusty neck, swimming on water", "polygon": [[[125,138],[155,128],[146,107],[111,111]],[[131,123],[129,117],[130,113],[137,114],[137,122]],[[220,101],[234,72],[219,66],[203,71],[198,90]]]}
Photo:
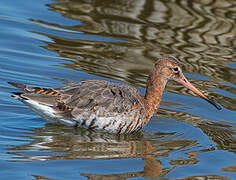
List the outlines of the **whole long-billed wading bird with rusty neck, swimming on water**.
{"label": "whole long-billed wading bird with rusty neck, swimming on water", "polygon": [[131,86],[103,80],[85,80],[56,89],[9,83],[23,91],[14,93],[13,97],[49,122],[112,133],[132,133],[143,128],[158,110],[168,80],[179,82],[220,109],[188,82],[174,57],[156,62],[148,77],[144,97]]}

